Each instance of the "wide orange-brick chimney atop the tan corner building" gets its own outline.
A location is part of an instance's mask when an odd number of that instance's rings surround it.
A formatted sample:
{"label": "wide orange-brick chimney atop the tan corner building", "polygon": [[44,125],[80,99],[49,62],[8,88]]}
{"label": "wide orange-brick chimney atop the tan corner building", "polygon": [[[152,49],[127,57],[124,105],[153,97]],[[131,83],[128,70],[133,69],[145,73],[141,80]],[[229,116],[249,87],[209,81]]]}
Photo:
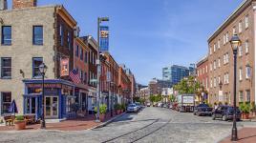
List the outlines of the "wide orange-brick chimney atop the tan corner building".
{"label": "wide orange-brick chimney atop the tan corner building", "polygon": [[36,7],[37,0],[12,0],[12,9]]}

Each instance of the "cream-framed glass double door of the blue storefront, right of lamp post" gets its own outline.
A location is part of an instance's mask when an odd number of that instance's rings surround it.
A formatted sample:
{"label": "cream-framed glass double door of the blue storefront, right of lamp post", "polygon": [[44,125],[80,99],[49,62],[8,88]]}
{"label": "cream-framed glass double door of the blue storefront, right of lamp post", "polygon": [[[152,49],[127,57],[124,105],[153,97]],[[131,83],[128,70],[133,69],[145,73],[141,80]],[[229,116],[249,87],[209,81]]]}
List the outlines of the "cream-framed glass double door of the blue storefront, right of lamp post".
{"label": "cream-framed glass double door of the blue storefront, right of lamp post", "polygon": [[58,117],[58,97],[46,96],[45,97],[45,118]]}

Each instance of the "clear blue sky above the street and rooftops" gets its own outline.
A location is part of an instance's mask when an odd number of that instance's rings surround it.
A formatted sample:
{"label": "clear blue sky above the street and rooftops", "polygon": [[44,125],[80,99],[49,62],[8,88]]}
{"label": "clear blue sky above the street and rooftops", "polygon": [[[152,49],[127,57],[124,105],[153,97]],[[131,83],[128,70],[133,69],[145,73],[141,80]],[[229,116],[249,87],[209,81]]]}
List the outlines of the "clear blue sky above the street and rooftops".
{"label": "clear blue sky above the street and rooftops", "polygon": [[189,66],[207,52],[207,38],[243,0],[38,0],[63,4],[96,37],[97,16],[109,16],[110,52],[139,83],[161,78],[161,68]]}

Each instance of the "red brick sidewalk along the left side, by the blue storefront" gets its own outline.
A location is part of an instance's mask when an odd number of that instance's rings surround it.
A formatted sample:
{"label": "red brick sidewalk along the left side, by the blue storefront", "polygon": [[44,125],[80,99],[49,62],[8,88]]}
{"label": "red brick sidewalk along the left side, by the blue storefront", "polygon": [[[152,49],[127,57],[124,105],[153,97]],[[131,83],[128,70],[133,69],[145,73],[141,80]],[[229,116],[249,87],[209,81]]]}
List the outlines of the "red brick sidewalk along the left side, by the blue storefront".
{"label": "red brick sidewalk along the left side, by the blue storefront", "polygon": [[[113,117],[116,116],[113,112]],[[105,121],[111,119],[110,113],[106,114]],[[96,118],[94,114],[87,115],[84,118],[75,118],[64,120],[58,123],[46,123],[47,130],[59,130],[59,131],[82,131],[96,127],[101,123],[95,122]],[[40,124],[27,125],[26,130],[38,130],[40,129]],[[0,131],[14,131],[14,126],[0,126]]]}

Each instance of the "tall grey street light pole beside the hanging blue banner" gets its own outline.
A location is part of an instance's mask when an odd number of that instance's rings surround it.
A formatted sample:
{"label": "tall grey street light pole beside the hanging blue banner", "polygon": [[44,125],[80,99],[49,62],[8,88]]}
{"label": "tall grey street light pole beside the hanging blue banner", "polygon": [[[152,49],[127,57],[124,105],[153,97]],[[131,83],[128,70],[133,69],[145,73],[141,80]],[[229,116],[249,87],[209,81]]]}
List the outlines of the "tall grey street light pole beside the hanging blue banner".
{"label": "tall grey street light pole beside the hanging blue banner", "polygon": [[99,27],[100,27],[100,23],[104,22],[104,21],[109,21],[108,17],[98,17],[97,18],[97,60],[96,60],[96,79],[97,79],[97,84],[96,84],[96,122],[100,122],[99,121],[99,95],[100,95],[100,88],[99,88],[99,78],[100,78],[100,74],[101,74],[101,64],[100,64],[100,46],[99,46]]}

